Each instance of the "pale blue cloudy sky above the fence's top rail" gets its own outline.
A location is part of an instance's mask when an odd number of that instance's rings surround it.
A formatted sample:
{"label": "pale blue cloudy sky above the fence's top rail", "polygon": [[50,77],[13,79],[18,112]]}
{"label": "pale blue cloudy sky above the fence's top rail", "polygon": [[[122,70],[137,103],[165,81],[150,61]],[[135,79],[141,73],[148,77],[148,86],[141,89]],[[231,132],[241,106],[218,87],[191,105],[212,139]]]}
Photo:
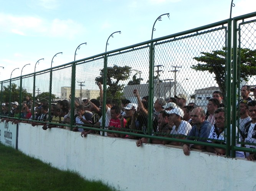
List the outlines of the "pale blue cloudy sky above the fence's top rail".
{"label": "pale blue cloudy sky above the fence's top rail", "polygon": [[[234,0],[232,17],[256,11],[255,0]],[[63,65],[230,16],[231,0],[0,0],[0,81]]]}

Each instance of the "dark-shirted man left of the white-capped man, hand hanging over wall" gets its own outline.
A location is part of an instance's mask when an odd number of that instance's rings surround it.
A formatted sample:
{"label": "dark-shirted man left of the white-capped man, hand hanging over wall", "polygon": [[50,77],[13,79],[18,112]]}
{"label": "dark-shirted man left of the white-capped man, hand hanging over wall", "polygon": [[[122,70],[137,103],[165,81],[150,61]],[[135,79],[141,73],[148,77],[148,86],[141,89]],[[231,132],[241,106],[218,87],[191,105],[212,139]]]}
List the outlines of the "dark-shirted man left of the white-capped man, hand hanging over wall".
{"label": "dark-shirted man left of the white-capped man, hand hanging over wall", "polygon": [[[164,136],[164,137],[169,137],[170,130],[168,128],[168,116],[169,114],[166,113],[164,110],[160,111],[157,117],[157,122],[158,122],[158,129],[159,131],[157,132],[157,136]],[[136,141],[136,146],[140,147],[142,146],[142,143],[148,143],[149,139],[148,138],[140,138],[139,140]],[[159,139],[152,139],[153,144],[168,144],[169,141],[163,141]]]}

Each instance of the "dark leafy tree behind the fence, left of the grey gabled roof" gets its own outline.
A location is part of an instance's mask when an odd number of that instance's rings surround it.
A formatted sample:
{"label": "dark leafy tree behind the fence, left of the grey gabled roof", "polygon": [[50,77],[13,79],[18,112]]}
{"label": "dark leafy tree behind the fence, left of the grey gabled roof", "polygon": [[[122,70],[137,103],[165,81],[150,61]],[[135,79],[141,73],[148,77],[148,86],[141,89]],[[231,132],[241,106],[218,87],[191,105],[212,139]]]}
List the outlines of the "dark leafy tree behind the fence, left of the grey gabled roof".
{"label": "dark leafy tree behind the fence, left of the grey gabled roof", "polygon": [[[121,91],[124,89],[124,84],[119,84],[122,80],[127,80],[130,76],[131,67],[117,66],[107,67],[107,97],[111,99],[121,99]],[[104,69],[101,70],[100,76],[95,78],[96,83],[103,84]]]}

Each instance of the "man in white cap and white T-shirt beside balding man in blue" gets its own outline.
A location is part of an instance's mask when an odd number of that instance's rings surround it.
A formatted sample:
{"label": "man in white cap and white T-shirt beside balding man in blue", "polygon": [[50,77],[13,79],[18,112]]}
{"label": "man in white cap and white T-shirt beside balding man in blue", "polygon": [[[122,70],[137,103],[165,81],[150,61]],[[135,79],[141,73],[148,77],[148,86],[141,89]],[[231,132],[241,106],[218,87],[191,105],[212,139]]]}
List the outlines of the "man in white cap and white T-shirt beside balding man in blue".
{"label": "man in white cap and white T-shirt beside balding man in blue", "polygon": [[[165,111],[169,114],[169,128],[171,130],[170,134],[173,138],[185,139],[188,132],[192,128],[192,126],[187,122],[182,120],[184,116],[184,112],[181,108],[175,107],[170,111]],[[169,144],[180,145],[180,142],[172,141]]]}

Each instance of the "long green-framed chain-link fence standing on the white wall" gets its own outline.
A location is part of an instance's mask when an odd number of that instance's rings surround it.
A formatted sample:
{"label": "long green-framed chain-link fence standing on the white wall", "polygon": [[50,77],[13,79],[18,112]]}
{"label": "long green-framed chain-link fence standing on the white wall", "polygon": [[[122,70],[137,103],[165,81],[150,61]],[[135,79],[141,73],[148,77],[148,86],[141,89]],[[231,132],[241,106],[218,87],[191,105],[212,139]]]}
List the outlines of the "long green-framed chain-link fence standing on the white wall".
{"label": "long green-framed chain-link fence standing on the white wall", "polygon": [[[84,135],[101,132],[139,139],[138,144],[147,140],[194,144],[195,149],[207,146],[217,154],[230,155],[232,143],[233,157],[235,151],[246,151],[238,144],[249,142],[255,149],[254,134],[251,141],[240,140],[246,128],[245,123],[237,123],[243,106],[240,83],[256,85],[253,16],[256,13],[236,18],[234,23],[240,23],[238,29],[234,25],[233,33],[231,19],[227,19],[2,81],[1,116],[33,121],[44,129],[61,127],[86,130]],[[231,34],[239,40],[239,45],[233,40],[233,62],[228,56]],[[239,63],[237,69],[235,63]],[[233,89],[231,78],[237,82]],[[220,107],[225,109],[216,110]],[[249,128],[248,132],[254,131]]]}

